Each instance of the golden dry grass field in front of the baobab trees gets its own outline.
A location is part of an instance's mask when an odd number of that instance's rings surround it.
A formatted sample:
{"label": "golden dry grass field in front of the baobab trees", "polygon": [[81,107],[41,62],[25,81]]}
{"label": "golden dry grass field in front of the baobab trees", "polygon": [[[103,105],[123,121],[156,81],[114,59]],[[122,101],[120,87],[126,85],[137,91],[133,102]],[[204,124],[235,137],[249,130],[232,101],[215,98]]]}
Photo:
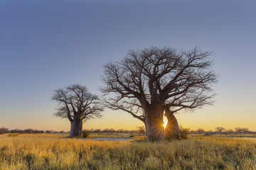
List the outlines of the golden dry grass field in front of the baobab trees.
{"label": "golden dry grass field in front of the baobab trees", "polygon": [[0,169],[256,169],[256,142],[191,137],[100,142],[63,135],[0,135]]}

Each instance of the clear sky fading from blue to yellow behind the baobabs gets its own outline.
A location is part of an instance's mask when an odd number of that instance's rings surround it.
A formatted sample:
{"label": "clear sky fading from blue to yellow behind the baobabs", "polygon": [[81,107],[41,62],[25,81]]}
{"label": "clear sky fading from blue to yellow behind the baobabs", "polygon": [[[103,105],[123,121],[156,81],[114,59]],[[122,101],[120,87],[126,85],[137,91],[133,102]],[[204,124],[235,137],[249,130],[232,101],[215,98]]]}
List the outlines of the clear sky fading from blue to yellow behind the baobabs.
{"label": "clear sky fading from blue to yellow behind the baobabs", "polygon": [[[0,127],[70,130],[53,117],[53,90],[82,84],[101,95],[102,64],[155,45],[213,52],[216,102],[178,113],[183,127],[256,130],[255,8],[255,0],[1,0]],[[102,114],[85,128],[143,125],[122,111]]]}

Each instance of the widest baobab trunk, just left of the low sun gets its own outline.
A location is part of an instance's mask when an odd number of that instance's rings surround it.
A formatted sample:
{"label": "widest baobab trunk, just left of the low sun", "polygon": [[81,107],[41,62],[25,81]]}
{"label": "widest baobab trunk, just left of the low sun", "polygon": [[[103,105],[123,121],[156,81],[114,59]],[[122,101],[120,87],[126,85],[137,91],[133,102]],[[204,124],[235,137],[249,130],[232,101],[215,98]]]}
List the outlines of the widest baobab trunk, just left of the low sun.
{"label": "widest baobab trunk, just left of the low sun", "polygon": [[164,121],[161,108],[147,110],[145,115],[146,141],[163,141]]}

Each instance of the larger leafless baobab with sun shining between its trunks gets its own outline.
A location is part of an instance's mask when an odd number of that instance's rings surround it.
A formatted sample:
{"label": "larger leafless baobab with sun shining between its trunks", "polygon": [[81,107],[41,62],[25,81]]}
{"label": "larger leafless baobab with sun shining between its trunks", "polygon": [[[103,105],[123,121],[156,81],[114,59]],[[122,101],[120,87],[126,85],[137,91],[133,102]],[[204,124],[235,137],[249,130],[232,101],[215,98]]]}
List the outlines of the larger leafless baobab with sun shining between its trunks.
{"label": "larger leafless baobab with sun shining between its trunks", "polygon": [[[210,52],[197,47],[178,51],[170,47],[130,50],[120,62],[104,65],[101,91],[105,105],[142,120],[147,140],[178,138],[174,113],[211,104],[211,85],[216,74],[211,69]],[[110,94],[110,95],[108,95]],[[164,114],[169,120],[164,133]]]}

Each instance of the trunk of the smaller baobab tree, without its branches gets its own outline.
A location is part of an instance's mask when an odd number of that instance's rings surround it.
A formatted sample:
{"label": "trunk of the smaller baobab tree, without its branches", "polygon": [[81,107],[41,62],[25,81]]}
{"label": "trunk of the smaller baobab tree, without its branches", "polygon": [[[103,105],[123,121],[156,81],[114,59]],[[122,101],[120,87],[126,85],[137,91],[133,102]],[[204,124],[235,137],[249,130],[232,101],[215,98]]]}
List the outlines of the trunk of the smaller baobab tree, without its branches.
{"label": "trunk of the smaller baobab tree, without its branches", "polygon": [[70,127],[70,137],[78,137],[82,135],[82,120],[80,118],[80,114],[76,114],[73,121],[71,122],[71,127]]}

